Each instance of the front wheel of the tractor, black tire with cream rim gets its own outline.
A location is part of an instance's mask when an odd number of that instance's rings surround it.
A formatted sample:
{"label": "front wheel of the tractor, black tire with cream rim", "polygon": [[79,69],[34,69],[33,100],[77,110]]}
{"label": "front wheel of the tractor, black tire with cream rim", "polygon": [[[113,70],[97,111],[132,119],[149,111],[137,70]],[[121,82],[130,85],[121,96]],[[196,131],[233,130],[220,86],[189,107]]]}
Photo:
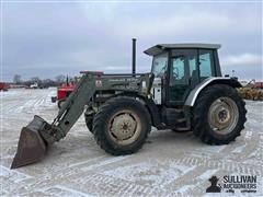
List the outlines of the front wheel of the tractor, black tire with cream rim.
{"label": "front wheel of the tractor, black tire with cream rim", "polygon": [[151,119],[147,108],[139,101],[127,96],[105,102],[93,119],[96,143],[113,155],[137,152],[150,130]]}

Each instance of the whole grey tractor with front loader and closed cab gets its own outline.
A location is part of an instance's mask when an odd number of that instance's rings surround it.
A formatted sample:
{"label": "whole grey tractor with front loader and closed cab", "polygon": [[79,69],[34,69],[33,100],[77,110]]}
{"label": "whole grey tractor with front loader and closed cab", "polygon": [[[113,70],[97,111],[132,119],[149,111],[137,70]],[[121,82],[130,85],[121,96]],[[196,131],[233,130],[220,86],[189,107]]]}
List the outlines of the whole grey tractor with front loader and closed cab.
{"label": "whole grey tractor with front loader and closed cab", "polygon": [[66,137],[84,113],[96,143],[113,155],[137,152],[151,131],[193,131],[207,144],[228,144],[240,136],[245,103],[236,78],[221,77],[218,44],[159,44],[151,72],[85,71],[73,92],[48,124],[39,116],[23,127],[11,169],[35,163],[47,147]]}

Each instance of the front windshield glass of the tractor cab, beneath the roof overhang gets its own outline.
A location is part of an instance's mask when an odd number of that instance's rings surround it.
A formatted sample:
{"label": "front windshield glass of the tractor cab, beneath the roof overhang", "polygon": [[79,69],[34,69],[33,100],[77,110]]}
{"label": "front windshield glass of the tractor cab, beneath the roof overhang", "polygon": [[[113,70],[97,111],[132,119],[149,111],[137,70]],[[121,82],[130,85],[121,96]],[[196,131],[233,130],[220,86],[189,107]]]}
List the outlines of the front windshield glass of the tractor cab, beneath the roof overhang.
{"label": "front windshield glass of the tractor cab, beneath the roof overhang", "polygon": [[156,78],[162,78],[168,67],[168,53],[160,54],[153,57],[152,70]]}

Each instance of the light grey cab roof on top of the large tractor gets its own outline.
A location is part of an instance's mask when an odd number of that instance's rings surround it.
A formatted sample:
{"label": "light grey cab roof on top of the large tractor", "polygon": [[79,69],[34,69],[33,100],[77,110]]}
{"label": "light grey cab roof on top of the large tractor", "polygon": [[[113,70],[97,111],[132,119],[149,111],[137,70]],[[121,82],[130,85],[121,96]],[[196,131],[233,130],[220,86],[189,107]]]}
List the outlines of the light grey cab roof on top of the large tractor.
{"label": "light grey cab roof on top of the large tractor", "polygon": [[188,43],[188,44],[159,44],[148,48],[144,53],[149,56],[155,56],[162,53],[165,49],[174,48],[204,48],[204,49],[218,49],[221,45],[219,44],[202,44],[202,43]]}

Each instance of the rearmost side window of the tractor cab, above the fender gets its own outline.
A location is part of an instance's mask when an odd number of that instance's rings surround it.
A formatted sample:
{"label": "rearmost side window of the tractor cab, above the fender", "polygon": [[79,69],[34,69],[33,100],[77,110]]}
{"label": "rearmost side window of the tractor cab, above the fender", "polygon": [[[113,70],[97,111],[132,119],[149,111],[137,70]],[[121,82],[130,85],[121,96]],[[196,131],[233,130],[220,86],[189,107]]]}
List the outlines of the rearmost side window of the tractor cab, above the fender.
{"label": "rearmost side window of the tractor cab, above the fender", "polygon": [[199,76],[201,78],[214,76],[214,56],[213,50],[199,50]]}

